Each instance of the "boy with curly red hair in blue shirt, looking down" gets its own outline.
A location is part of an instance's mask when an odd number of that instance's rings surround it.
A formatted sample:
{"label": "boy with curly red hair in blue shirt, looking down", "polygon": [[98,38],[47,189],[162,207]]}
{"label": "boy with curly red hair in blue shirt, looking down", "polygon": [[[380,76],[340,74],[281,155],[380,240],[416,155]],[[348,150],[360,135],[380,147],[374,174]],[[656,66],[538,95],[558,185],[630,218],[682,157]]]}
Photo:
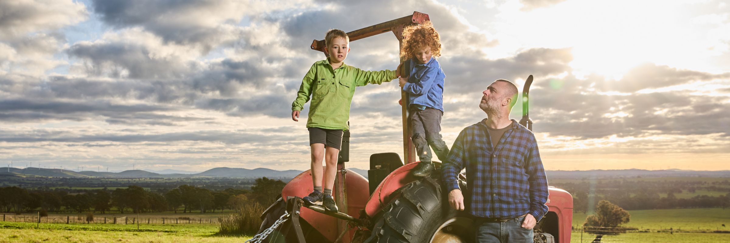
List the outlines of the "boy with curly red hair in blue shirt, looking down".
{"label": "boy with curly red hair in blue shirt, looking down", "polygon": [[[425,177],[434,170],[431,148],[443,161],[449,148],[442,139],[441,117],[446,75],[436,57],[441,56],[441,38],[431,21],[403,29],[401,61],[410,67],[409,77],[400,77],[399,85],[409,94],[409,126],[420,163],[415,177]],[[429,145],[431,148],[429,148]]]}

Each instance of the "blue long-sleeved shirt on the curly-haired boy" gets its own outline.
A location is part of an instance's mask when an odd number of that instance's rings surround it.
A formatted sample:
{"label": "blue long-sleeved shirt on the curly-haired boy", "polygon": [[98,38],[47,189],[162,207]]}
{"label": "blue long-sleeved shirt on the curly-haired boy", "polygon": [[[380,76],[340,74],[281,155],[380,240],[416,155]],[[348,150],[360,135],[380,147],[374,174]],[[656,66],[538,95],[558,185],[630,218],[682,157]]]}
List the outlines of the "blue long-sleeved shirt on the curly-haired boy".
{"label": "blue long-sleeved shirt on the curly-haired boy", "polygon": [[429,62],[420,64],[410,60],[410,77],[403,85],[403,90],[410,94],[409,104],[420,104],[444,111],[444,81],[446,75],[439,61],[431,58]]}

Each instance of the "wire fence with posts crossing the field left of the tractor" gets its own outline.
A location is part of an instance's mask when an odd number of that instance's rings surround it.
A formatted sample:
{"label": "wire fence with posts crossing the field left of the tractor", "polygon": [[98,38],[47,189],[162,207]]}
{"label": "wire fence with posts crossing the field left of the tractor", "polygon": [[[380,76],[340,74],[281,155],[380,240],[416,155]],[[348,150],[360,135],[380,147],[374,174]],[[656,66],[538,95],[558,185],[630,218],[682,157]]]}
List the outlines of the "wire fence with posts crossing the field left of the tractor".
{"label": "wire fence with posts crossing the field left of the tractor", "polygon": [[118,216],[94,216],[87,215],[76,216],[48,216],[38,217],[36,215],[2,215],[4,222],[23,222],[23,223],[112,223],[112,224],[218,224],[217,218],[201,218],[201,217],[118,217]]}

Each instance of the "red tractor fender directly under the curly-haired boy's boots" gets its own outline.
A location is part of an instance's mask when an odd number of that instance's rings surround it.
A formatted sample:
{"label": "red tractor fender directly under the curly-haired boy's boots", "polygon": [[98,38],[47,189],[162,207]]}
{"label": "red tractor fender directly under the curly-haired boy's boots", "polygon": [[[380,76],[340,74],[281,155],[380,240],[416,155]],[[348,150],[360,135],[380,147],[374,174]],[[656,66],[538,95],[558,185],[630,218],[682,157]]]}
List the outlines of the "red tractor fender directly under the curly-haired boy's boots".
{"label": "red tractor fender directly under the curly-haired boy's boots", "polygon": [[410,182],[418,180],[418,178],[413,177],[410,172],[415,169],[415,166],[417,166],[418,163],[420,163],[420,161],[400,166],[398,169],[391,172],[391,174],[388,174],[388,176],[383,179],[383,182],[380,182],[380,185],[377,185],[377,188],[373,191],[365,205],[365,213],[369,217],[376,215],[380,212],[380,209],[383,209],[383,207],[391,202],[393,198],[396,198],[399,194],[394,193],[396,190]]}

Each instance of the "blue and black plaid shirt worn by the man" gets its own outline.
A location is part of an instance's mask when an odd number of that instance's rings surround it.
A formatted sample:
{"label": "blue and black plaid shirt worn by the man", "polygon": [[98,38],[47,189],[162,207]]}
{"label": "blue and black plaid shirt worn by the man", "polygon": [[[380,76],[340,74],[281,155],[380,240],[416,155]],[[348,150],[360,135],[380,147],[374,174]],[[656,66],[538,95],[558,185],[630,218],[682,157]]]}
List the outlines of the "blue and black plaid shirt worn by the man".
{"label": "blue and black plaid shirt worn by the man", "polygon": [[476,217],[519,217],[526,213],[540,220],[548,212],[548,178],[542,167],[534,134],[512,120],[496,149],[482,120],[468,126],[454,141],[442,166],[450,192],[460,189],[458,174],[466,168],[471,195],[464,198],[467,212]]}

